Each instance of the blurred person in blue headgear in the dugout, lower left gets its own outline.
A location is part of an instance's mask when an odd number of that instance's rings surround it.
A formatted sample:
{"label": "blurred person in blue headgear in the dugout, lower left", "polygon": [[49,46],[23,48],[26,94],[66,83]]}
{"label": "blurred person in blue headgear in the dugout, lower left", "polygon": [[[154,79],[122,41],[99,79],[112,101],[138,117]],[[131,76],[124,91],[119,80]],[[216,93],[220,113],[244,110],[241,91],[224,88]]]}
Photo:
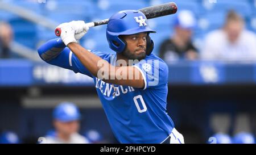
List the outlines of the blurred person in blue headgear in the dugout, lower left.
{"label": "blurred person in blue headgear in the dugout, lower left", "polygon": [[59,104],[53,111],[53,125],[55,132],[47,133],[44,144],[86,144],[89,141],[78,133],[79,109],[73,103],[64,102]]}

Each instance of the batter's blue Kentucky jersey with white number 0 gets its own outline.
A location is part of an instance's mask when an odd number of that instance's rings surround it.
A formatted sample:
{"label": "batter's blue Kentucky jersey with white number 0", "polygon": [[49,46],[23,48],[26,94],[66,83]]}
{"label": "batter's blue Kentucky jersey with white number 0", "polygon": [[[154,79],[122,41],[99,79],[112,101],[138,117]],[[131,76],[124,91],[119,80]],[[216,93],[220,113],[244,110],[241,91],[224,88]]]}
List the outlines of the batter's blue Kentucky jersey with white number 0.
{"label": "batter's blue Kentucky jersey with white number 0", "polygon": [[[115,65],[116,55],[91,52]],[[39,55],[42,57],[40,50]],[[144,79],[142,89],[113,85],[94,77],[68,48],[47,62],[94,79],[110,127],[120,143],[161,143],[171,134],[174,123],[166,112],[168,66],[154,54],[134,64]]]}

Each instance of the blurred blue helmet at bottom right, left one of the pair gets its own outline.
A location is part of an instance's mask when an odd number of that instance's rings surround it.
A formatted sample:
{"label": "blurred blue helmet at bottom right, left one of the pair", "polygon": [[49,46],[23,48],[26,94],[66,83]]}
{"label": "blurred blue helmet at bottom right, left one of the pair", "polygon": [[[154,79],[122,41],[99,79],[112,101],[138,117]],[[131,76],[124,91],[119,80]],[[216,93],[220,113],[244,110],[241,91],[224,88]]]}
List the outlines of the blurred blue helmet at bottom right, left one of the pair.
{"label": "blurred blue helmet at bottom right, left one of the pair", "polygon": [[225,133],[216,133],[208,140],[209,144],[232,144],[232,139]]}

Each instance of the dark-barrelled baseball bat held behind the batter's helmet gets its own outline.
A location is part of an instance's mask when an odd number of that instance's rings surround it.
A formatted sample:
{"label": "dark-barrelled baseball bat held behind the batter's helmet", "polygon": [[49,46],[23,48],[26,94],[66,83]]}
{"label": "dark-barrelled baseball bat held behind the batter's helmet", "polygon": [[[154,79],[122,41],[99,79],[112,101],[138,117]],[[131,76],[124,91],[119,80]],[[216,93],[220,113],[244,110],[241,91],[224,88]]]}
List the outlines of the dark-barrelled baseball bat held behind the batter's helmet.
{"label": "dark-barrelled baseball bat held behind the batter's helmet", "polygon": [[[151,18],[157,18],[159,16],[175,14],[177,12],[177,5],[174,2],[170,2],[162,5],[145,7],[143,9],[139,9],[139,11],[143,12],[143,14],[146,16],[147,19],[151,19]],[[95,27],[95,26],[100,26],[108,23],[109,23],[109,19],[104,19],[98,22],[90,22],[86,24],[88,27]],[[61,34],[61,29],[56,28],[55,35],[60,36],[60,34]]]}

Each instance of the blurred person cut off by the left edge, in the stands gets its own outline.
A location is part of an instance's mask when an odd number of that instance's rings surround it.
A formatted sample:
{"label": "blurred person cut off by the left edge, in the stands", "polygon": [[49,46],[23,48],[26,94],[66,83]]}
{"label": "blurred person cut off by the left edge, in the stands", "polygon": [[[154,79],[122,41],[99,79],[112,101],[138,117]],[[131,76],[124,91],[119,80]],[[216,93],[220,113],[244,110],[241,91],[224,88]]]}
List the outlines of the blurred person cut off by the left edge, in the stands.
{"label": "blurred person cut off by the left edge, in the stands", "polygon": [[8,23],[0,23],[0,58],[9,58],[10,43],[13,40],[13,30]]}

